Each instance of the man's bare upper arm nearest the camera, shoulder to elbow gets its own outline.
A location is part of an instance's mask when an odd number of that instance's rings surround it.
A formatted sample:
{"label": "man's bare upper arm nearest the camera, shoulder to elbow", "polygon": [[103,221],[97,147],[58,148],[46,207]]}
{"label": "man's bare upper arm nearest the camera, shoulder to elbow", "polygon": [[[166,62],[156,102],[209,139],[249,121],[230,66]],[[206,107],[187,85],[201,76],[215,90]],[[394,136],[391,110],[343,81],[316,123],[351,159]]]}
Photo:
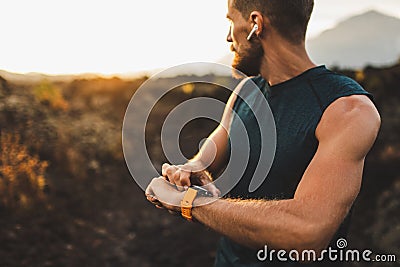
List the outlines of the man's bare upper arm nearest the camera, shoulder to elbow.
{"label": "man's bare upper arm nearest the camera, shoulder to elbow", "polygon": [[364,159],[380,125],[371,105],[355,96],[328,107],[316,131],[317,152],[295,193],[295,199],[308,204],[310,219],[330,235],[360,190]]}

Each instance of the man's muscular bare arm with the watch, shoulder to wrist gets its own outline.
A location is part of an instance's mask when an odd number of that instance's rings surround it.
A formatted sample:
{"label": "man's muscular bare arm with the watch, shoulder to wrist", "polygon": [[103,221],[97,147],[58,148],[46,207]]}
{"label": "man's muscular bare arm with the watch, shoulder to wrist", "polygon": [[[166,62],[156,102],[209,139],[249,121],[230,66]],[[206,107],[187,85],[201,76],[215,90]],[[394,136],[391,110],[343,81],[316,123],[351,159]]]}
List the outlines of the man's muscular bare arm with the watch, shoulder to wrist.
{"label": "man's muscular bare arm with the watch, shoulder to wrist", "polygon": [[358,195],[364,159],[379,126],[379,114],[367,97],[340,98],[322,116],[316,130],[317,152],[293,199],[220,199],[196,206],[193,216],[250,247],[321,250]]}

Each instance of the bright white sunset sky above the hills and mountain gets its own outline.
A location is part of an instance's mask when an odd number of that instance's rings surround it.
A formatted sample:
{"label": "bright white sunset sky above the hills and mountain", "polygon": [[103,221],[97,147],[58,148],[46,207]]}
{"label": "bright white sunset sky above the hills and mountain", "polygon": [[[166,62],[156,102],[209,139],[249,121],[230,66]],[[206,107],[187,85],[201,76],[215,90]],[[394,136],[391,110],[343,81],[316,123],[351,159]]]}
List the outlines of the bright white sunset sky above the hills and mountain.
{"label": "bright white sunset sky above the hills and mountain", "polygon": [[[400,18],[399,0],[315,0],[309,37],[370,9]],[[2,0],[0,69],[134,73],[229,53],[226,0]]]}

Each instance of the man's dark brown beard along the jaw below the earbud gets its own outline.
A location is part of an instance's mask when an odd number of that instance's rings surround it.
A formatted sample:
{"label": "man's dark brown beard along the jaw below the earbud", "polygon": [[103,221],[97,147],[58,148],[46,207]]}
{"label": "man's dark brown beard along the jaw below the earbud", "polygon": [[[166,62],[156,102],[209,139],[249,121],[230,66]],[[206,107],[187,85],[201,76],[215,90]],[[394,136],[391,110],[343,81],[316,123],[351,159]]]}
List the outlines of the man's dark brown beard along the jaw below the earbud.
{"label": "man's dark brown beard along the jaw below the earbud", "polygon": [[[233,58],[232,67],[247,76],[257,76],[260,74],[261,62],[264,55],[264,49],[262,48],[261,42],[258,40],[252,40],[249,42],[250,46],[241,46],[240,51],[235,51],[233,45],[231,50],[235,52]],[[234,71],[235,77],[242,76],[237,71]]]}

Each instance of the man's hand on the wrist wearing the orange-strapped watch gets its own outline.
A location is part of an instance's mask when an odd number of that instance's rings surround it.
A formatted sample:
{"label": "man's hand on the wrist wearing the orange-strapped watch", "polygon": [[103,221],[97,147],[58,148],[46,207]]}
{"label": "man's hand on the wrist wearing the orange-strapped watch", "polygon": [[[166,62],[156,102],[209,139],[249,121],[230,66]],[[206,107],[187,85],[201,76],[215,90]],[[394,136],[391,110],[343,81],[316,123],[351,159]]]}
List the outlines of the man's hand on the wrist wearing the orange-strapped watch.
{"label": "man's hand on the wrist wearing the orange-strapped watch", "polygon": [[181,192],[177,187],[164,177],[154,178],[146,188],[147,200],[158,208],[166,208],[169,211],[180,212],[181,200],[185,192]]}

